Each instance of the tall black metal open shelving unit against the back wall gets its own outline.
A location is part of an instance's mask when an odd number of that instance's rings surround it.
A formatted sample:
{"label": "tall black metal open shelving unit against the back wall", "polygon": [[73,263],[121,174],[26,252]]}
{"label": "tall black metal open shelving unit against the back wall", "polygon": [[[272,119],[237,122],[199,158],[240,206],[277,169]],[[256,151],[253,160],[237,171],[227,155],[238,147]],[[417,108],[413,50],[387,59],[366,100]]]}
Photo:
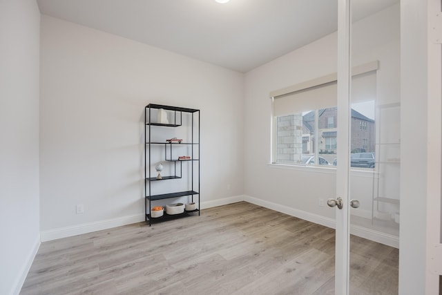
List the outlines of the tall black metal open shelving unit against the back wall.
{"label": "tall black metal open shelving unit against the back wall", "polygon": [[[173,122],[172,123],[161,123],[161,122],[153,122],[152,115],[153,109],[156,110],[165,110],[173,113]],[[190,124],[184,126],[182,125],[184,115],[189,115]],[[195,126],[195,120],[198,119],[198,125]],[[152,225],[153,222],[162,222],[166,220],[173,220],[176,218],[182,218],[187,216],[193,216],[195,213],[200,215],[200,110],[195,108],[181,108],[177,106],[164,106],[162,104],[148,104],[145,108],[144,112],[144,209],[146,215],[146,222],[149,223],[149,226]],[[190,142],[167,142],[166,139],[164,142],[152,142],[151,135],[155,132],[156,126],[162,127],[172,127],[172,128],[188,128],[191,129],[191,140]],[[195,134],[198,133],[198,134]],[[195,139],[198,138],[198,140]],[[178,145],[189,146],[191,150],[191,158],[185,160],[177,160],[173,159],[173,149]],[[159,146],[164,149],[164,158],[163,162],[168,162],[173,165],[173,175],[162,176],[161,179],[157,179],[151,175],[151,161],[152,161],[152,149],[153,146]],[[196,149],[198,146],[198,149]],[[195,151],[195,150],[198,150]],[[197,158],[195,158],[195,156]],[[191,165],[191,172],[183,175],[183,163],[189,163]],[[185,165],[185,164],[184,164]],[[195,167],[196,166],[196,167]],[[195,179],[195,170],[198,169],[198,180]],[[171,193],[162,193],[162,194],[152,194],[152,186],[155,185],[153,182],[163,181],[163,180],[180,180],[183,177],[188,177],[190,179],[190,185],[188,185],[188,190],[185,191],[174,191]],[[159,218],[151,218],[151,208],[152,202],[156,200],[164,200],[171,198],[181,198],[185,196],[191,196],[191,202],[198,202],[198,209],[193,211],[184,211],[184,213],[168,215],[166,214],[166,208],[164,208],[164,215]],[[195,200],[194,200],[195,199]]]}

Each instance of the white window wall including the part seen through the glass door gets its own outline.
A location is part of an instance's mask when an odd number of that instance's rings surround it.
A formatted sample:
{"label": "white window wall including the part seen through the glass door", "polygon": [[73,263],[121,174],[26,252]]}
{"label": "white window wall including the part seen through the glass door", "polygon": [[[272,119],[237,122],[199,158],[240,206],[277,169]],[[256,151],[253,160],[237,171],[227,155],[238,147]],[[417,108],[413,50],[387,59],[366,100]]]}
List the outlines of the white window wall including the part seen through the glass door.
{"label": "white window wall including the part seen through the glass door", "polygon": [[[399,6],[392,6],[358,21],[353,30],[353,66],[378,60],[378,101],[398,102]],[[247,151],[244,155],[244,193],[247,196],[325,218],[334,218],[334,210],[318,206],[318,198],[335,197],[334,171],[311,168],[277,169],[269,165],[269,92],[336,73],[336,50],[337,35],[334,33],[247,73],[244,104],[244,148]],[[355,173],[354,178],[358,177],[358,173]],[[361,200],[364,206],[369,203],[369,210],[371,202],[371,196],[367,200]]]}

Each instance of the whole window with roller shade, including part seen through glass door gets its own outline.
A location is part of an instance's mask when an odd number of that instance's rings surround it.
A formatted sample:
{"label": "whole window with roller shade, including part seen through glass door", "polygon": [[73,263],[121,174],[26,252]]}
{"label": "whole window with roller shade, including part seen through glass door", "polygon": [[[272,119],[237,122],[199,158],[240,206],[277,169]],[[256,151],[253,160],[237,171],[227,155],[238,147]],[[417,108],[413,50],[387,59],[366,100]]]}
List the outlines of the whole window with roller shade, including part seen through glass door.
{"label": "whole window with roller shade, including part seen through glass door", "polygon": [[[376,97],[377,68],[378,63],[372,62],[352,70],[352,153],[374,149],[374,116],[363,106]],[[336,77],[335,73],[270,93],[272,163],[337,164]]]}

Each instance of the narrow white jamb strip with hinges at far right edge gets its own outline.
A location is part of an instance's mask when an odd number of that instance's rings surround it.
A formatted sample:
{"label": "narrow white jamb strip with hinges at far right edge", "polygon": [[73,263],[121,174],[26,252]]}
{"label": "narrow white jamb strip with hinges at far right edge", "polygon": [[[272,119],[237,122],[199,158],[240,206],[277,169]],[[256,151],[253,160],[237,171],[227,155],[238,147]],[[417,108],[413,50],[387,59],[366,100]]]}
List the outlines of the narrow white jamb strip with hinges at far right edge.
{"label": "narrow white jamb strip with hinges at far right edge", "polygon": [[441,244],[441,111],[442,13],[441,1],[428,1],[427,100],[427,294],[439,294],[442,275]]}

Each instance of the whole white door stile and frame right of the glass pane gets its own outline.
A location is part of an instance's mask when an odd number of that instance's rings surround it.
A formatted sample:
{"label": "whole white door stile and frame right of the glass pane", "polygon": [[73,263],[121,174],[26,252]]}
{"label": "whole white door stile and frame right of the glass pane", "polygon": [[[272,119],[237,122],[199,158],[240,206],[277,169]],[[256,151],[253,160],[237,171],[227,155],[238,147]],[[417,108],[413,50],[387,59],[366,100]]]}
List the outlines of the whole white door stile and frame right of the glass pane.
{"label": "whole white door stile and frame right of the glass pane", "polygon": [[[401,115],[412,120],[401,122],[399,294],[439,294],[442,61],[441,45],[430,36],[440,5],[401,0]],[[419,149],[426,156],[420,162]]]}

